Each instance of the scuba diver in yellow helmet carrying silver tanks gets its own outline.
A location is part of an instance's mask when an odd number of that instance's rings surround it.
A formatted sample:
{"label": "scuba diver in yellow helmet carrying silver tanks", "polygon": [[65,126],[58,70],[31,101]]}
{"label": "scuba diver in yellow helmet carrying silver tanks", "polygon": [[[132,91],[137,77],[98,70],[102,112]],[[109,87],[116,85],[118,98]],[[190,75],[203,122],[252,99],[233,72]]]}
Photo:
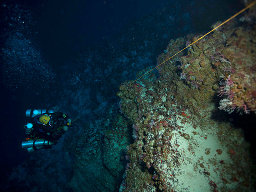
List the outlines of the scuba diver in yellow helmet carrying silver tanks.
{"label": "scuba diver in yellow helmet carrying silver tanks", "polygon": [[52,109],[28,109],[26,116],[31,119],[24,125],[27,141],[23,141],[21,147],[27,148],[30,153],[51,148],[71,126],[68,115]]}

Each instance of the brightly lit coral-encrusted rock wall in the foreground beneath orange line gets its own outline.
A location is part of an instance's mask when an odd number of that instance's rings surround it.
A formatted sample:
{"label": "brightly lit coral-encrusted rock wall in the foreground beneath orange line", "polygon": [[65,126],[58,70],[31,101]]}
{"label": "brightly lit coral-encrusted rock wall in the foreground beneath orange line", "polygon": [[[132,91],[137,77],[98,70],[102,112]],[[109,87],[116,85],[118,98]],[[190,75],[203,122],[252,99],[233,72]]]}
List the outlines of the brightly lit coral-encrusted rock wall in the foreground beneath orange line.
{"label": "brightly lit coral-encrusted rock wall in the foreground beneath orange line", "polygon": [[[155,73],[120,85],[121,111],[132,121],[134,139],[120,191],[255,189],[242,127],[221,118],[255,113],[255,29],[255,10],[250,10]],[[171,40],[158,63],[202,35]]]}

